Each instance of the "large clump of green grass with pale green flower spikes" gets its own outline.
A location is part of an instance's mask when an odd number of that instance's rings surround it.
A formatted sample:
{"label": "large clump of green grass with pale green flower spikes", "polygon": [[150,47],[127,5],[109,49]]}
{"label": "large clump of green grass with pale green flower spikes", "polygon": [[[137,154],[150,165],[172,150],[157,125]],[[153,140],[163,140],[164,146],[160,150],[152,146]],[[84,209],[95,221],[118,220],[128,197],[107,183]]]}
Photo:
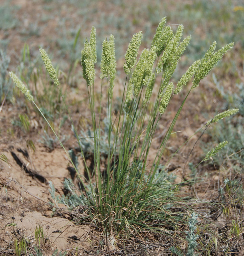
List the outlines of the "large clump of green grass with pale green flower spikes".
{"label": "large clump of green grass with pale green flower spikes", "polygon": [[[139,58],[138,52],[142,32],[140,31],[132,36],[125,54],[123,68],[126,78],[118,114],[113,111],[113,90],[116,86],[114,36],[109,36],[102,44],[100,92],[102,92],[102,87],[106,86],[107,94],[102,95],[100,93],[100,99],[95,97],[98,87],[94,85],[95,63],[97,62],[96,29],[94,27],[91,29],[90,39],[85,40],[81,51],[83,77],[87,84],[93,127],[93,134],[90,137],[90,140],[93,140],[92,153],[94,155],[94,168],[92,170],[89,170],[86,165],[83,138],[79,136],[71,117],[70,119],[88,177],[79,173],[68,153],[67,156],[73,163],[78,178],[84,187],[82,195],[75,196],[75,202],[82,202],[82,204],[89,206],[87,218],[95,222],[96,225],[103,227],[104,231],[109,232],[111,236],[113,232],[126,231],[135,234],[142,230],[156,232],[162,228],[170,234],[171,231],[167,231],[165,227],[172,227],[182,221],[180,213],[174,215],[174,219],[170,214],[170,207],[178,200],[178,197],[174,194],[177,187],[172,184],[164,170],[161,169],[161,156],[189,93],[216,66],[224,53],[234,45],[230,43],[215,51],[216,42],[214,42],[203,58],[196,60],[178,83],[174,84],[170,81],[171,77],[191,39],[191,36],[187,36],[181,41],[182,35],[183,25],[179,25],[174,33],[170,26],[166,26],[166,18],[164,17],[156,29],[151,47],[142,50]],[[43,49],[40,49],[40,52],[51,79],[59,88],[59,80],[51,60]],[[12,72],[10,72],[10,76],[28,100],[35,104],[30,91],[27,90],[19,78]],[[192,87],[179,106],[165,137],[161,140],[153,164],[149,165],[147,159],[157,124],[174,94],[180,93],[192,78]],[[160,81],[159,84],[156,79]],[[155,86],[156,84],[157,86]],[[157,96],[152,99],[153,90]],[[101,109],[104,99],[107,100],[105,128],[101,122]],[[95,107],[97,104],[100,104],[99,108]],[[206,126],[237,111],[238,109],[234,109],[218,114]],[[51,129],[58,138],[54,129],[52,127]],[[101,152],[103,152],[104,144],[104,140],[101,139],[104,134],[103,129],[106,130],[108,145],[106,147],[105,167],[101,162]],[[223,147],[224,143],[216,147],[213,152],[209,152],[204,161]],[[61,141],[60,144],[62,145]],[[62,147],[64,148],[63,145]],[[70,194],[74,196],[75,192],[71,189]],[[55,197],[54,193],[52,197]],[[69,206],[67,202],[70,200],[64,200],[63,198],[61,201]]]}

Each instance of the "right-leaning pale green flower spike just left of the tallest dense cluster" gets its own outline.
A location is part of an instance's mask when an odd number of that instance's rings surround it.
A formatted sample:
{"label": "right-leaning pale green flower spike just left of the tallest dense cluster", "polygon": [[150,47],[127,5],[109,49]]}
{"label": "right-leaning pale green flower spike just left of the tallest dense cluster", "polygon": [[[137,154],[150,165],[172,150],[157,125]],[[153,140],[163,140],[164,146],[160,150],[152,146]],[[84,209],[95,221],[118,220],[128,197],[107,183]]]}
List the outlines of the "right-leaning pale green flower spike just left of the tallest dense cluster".
{"label": "right-leaning pale green flower spike just left of the tallest dense cluster", "polygon": [[137,62],[137,54],[142,40],[142,31],[134,34],[125,54],[124,72],[126,75],[130,74],[130,70],[134,68]]}

